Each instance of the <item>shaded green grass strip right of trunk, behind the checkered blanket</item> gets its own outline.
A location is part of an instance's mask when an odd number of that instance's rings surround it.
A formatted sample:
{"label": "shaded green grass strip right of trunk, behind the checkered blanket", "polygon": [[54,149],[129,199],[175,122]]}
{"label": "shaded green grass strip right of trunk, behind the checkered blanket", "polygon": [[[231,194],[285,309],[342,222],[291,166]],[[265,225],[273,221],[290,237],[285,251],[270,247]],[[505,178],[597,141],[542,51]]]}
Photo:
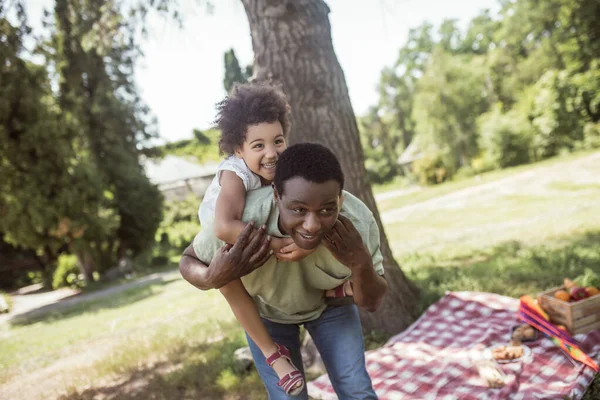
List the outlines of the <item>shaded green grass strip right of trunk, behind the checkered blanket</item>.
{"label": "shaded green grass strip right of trunk, behind the checkered blanket", "polygon": [[511,241],[454,259],[411,254],[400,263],[421,289],[420,314],[446,291],[518,298],[560,286],[563,278],[576,278],[586,269],[600,274],[600,232],[535,247]]}

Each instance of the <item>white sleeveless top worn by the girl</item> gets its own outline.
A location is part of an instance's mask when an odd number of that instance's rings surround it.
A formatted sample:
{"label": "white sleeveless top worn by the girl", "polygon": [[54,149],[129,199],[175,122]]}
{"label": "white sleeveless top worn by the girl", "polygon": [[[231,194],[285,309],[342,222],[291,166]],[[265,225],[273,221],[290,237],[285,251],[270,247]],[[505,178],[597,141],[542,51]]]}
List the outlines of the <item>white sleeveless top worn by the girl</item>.
{"label": "white sleeveless top worn by the girl", "polygon": [[217,206],[217,198],[221,192],[221,184],[219,180],[221,178],[222,171],[232,171],[240,177],[246,188],[246,192],[260,188],[260,178],[254,172],[250,171],[250,168],[246,165],[244,160],[237,158],[236,156],[229,156],[219,164],[217,167],[217,174],[213,178],[212,182],[206,189],[202,204],[198,210],[198,218],[200,218],[200,224],[202,226],[208,226],[212,224],[215,219],[215,208]]}

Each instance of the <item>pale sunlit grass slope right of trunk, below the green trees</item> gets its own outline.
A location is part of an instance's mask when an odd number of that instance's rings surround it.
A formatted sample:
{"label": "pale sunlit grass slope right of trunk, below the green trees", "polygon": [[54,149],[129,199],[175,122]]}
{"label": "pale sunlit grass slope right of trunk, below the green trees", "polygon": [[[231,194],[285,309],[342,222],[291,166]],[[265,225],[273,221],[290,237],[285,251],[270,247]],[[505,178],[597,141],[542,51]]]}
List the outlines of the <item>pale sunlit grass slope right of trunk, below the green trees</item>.
{"label": "pale sunlit grass slope right of trunk, below the green trees", "polygon": [[[454,257],[512,240],[539,245],[599,229],[600,161],[568,167],[570,161],[536,164],[518,180],[486,187],[449,183],[451,196],[432,188],[437,197],[404,209],[407,197],[429,196],[430,189],[398,198],[395,209],[382,213],[395,256]],[[487,175],[482,180],[489,181]],[[461,189],[468,192],[460,195]]]}

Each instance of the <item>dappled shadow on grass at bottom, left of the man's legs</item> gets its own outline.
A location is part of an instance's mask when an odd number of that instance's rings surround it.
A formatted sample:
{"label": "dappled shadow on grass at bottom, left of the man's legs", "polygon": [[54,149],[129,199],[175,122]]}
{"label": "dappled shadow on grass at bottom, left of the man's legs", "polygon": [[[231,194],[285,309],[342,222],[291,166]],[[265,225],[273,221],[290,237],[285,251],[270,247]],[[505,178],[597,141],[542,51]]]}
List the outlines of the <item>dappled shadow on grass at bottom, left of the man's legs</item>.
{"label": "dappled shadow on grass at bottom, left of the man's legs", "polygon": [[168,361],[126,367],[119,371],[118,375],[125,378],[118,382],[71,389],[59,399],[264,399],[265,391],[254,367],[245,370],[236,366],[234,351],[247,346],[239,330],[236,332],[218,342],[182,343],[170,349]]}

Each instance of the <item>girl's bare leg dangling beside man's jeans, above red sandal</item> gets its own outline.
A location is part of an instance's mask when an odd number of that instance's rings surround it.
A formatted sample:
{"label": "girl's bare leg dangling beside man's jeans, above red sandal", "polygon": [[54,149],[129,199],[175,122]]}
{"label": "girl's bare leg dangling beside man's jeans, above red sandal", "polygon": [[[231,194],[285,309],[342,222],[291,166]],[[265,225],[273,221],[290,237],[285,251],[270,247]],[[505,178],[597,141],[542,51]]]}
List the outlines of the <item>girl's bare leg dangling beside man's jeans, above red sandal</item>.
{"label": "girl's bare leg dangling beside man's jeans, above red sandal", "polygon": [[[252,341],[258,346],[265,358],[268,358],[271,354],[275,353],[278,350],[278,347],[273,341],[273,338],[271,338],[271,335],[269,335],[267,328],[265,328],[258,313],[256,303],[246,291],[242,281],[239,279],[231,281],[220,290],[229,303],[238,322],[242,325],[242,328],[244,328]],[[279,358],[273,363],[272,367],[279,378],[283,378],[285,375],[297,370],[297,368],[285,358]],[[294,387],[298,388],[301,385],[302,382],[299,382]]]}

